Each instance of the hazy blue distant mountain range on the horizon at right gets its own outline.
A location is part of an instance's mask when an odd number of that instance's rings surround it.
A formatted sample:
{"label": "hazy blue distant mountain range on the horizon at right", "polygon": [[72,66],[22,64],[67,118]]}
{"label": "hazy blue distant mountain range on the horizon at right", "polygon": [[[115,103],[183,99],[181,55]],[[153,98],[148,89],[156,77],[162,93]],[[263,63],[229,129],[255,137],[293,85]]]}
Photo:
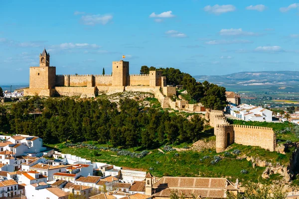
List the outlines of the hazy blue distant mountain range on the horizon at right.
{"label": "hazy blue distant mountain range on the horizon at right", "polygon": [[196,81],[208,81],[227,91],[299,92],[299,71],[240,72],[229,75],[197,75]]}

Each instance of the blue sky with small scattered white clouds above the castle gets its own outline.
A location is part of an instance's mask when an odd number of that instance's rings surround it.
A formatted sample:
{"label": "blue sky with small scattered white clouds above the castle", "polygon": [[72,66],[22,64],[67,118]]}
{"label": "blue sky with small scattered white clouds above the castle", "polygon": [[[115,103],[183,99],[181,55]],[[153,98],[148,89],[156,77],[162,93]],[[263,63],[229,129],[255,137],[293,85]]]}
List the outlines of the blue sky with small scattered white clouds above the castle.
{"label": "blue sky with small scattered white clouds above the castle", "polygon": [[1,1],[0,84],[28,83],[46,48],[56,74],[111,73],[112,61],[191,75],[298,70],[299,1]]}

